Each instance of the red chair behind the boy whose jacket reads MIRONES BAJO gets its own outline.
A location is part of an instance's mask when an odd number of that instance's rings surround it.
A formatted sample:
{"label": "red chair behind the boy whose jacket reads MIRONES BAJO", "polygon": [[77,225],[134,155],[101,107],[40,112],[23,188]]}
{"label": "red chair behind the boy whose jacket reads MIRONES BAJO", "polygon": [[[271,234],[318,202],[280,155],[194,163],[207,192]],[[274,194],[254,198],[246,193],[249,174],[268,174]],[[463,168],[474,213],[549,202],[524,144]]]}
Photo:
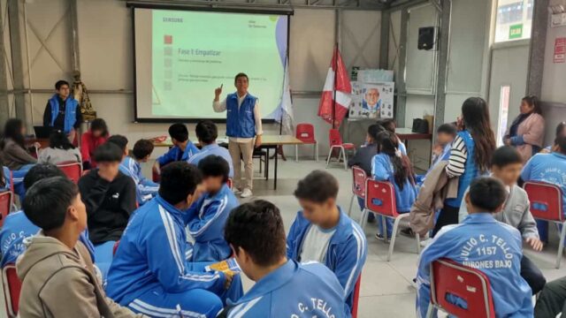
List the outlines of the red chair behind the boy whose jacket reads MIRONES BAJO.
{"label": "red chair behind the boy whose jacket reads MIRONES BAJO", "polygon": [[[468,308],[455,306],[447,301],[447,294],[464,299]],[[493,296],[489,278],[482,271],[455,261],[440,259],[431,264],[431,305],[427,317],[434,308],[460,318],[494,318]]]}

